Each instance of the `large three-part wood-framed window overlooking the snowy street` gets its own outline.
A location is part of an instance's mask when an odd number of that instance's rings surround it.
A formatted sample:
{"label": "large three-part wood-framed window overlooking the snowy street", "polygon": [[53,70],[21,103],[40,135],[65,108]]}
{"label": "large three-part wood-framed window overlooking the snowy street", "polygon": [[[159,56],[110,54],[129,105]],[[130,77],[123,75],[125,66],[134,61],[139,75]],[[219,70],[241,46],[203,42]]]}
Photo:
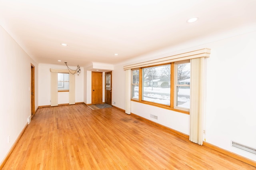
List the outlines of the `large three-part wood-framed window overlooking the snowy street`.
{"label": "large three-part wood-framed window overlooking the snowy street", "polygon": [[190,61],[132,69],[132,100],[189,113]]}

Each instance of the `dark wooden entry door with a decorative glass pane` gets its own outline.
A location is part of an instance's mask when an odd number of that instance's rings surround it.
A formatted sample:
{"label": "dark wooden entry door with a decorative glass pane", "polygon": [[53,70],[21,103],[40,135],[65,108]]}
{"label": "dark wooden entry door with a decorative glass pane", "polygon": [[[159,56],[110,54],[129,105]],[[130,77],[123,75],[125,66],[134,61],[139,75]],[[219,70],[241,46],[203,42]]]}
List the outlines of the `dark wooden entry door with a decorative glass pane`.
{"label": "dark wooden entry door with a decorative glass pane", "polygon": [[112,71],[105,73],[105,103],[112,105]]}

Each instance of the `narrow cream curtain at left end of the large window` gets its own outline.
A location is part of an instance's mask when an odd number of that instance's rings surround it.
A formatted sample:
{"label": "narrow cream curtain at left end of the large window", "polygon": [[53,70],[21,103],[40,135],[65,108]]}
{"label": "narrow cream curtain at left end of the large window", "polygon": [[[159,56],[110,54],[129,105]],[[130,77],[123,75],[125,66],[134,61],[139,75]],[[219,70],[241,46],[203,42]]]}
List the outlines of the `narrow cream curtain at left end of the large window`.
{"label": "narrow cream curtain at left end of the large window", "polygon": [[131,69],[125,71],[125,113],[131,114]]}

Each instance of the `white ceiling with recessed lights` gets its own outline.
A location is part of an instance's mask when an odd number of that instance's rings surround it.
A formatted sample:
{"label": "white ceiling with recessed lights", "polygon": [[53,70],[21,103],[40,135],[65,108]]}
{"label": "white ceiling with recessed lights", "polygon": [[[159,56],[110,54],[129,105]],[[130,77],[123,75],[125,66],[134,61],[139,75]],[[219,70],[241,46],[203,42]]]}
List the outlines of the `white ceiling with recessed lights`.
{"label": "white ceiling with recessed lights", "polygon": [[0,25],[38,63],[116,64],[255,22],[256,0],[0,0]]}

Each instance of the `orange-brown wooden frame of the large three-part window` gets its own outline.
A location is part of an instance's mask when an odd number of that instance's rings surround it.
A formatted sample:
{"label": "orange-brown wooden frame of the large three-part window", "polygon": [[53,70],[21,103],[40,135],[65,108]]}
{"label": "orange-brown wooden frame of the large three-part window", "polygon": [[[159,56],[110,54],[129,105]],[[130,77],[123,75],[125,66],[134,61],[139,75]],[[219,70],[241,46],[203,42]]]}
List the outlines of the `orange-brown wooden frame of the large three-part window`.
{"label": "orange-brown wooden frame of the large three-part window", "polygon": [[[150,66],[147,66],[147,67],[139,67],[139,68],[134,68],[134,69],[131,69],[131,71],[133,70],[137,70],[139,69],[139,73],[140,73],[140,77],[139,77],[139,99],[137,98],[132,98],[131,97],[131,101],[135,101],[135,102],[139,102],[139,103],[144,103],[144,104],[147,104],[147,105],[152,105],[152,106],[156,106],[156,107],[160,107],[160,108],[164,108],[164,109],[169,109],[169,110],[172,110],[172,111],[176,111],[176,112],[180,112],[180,113],[185,113],[185,114],[190,114],[190,109],[183,109],[182,107],[174,107],[174,100],[177,100],[175,99],[175,91],[174,91],[174,83],[175,83],[175,63],[180,63],[180,62],[184,62],[184,63],[190,63],[190,60],[184,60],[184,61],[176,61],[176,62],[171,62],[171,63],[163,63],[163,64],[158,64],[158,65],[150,65]],[[160,65],[168,65],[170,64],[170,105],[164,105],[164,104],[160,104],[160,103],[154,103],[154,102],[150,102],[150,101],[145,101],[145,100],[142,100],[142,86],[143,86],[143,83],[142,83],[142,69],[144,68],[148,68],[148,67],[156,67],[156,66],[160,66]],[[191,70],[190,70],[191,71]],[[132,83],[131,83],[131,88],[132,88]]]}

